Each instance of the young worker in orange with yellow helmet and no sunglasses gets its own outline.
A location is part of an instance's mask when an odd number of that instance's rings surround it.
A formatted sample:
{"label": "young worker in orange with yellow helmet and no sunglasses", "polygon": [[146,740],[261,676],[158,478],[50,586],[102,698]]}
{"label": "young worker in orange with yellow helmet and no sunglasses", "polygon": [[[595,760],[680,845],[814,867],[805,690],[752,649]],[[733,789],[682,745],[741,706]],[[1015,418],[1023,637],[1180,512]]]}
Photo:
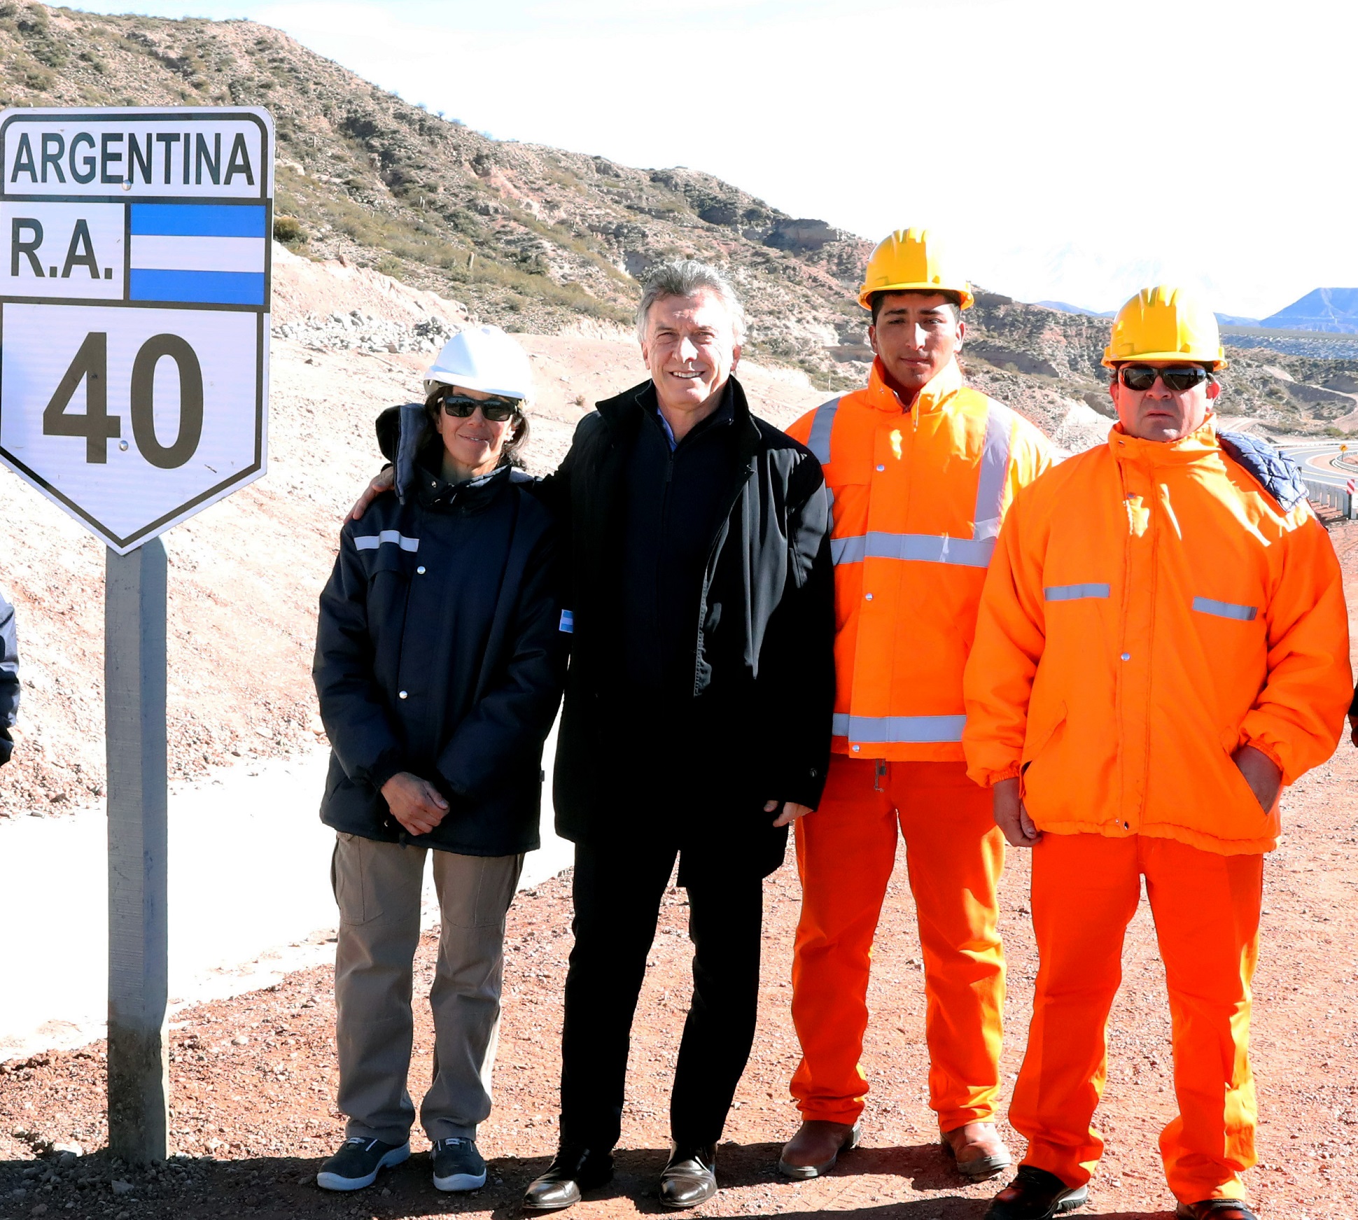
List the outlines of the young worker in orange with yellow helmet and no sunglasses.
{"label": "young worker in orange with yellow helmet and no sunglasses", "polygon": [[972,293],[928,232],[876,249],[858,303],[877,357],[868,387],[788,429],[834,496],[838,693],[824,796],[796,823],[803,1124],[778,1167],[812,1178],[858,1141],[868,971],[899,826],[923,946],[930,1105],[957,1168],[987,1178],[1010,1163],[994,1126],[1004,838],[966,776],[961,674],[999,523],[1051,458],[1036,428],[963,383]]}

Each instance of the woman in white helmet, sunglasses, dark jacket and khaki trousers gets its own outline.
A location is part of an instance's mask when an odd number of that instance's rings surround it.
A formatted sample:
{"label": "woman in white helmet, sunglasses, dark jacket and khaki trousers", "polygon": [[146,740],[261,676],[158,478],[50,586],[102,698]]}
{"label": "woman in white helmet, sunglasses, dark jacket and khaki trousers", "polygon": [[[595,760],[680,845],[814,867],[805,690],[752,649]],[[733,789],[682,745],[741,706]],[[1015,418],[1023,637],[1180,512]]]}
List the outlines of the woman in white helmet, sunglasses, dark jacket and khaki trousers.
{"label": "woman in white helmet, sunglasses, dark jacket and khaki trousers", "polygon": [[443,913],[429,993],[433,1083],[421,1124],[440,1190],[475,1190],[490,1113],[505,912],[539,846],[542,744],[565,671],[554,531],[515,469],[532,375],[493,326],[440,352],[425,402],[379,423],[398,496],[344,527],[315,682],[330,735],[320,818],[331,878],[338,1107],[346,1141],[318,1174],[371,1185],[410,1155],[413,959],[433,849]]}

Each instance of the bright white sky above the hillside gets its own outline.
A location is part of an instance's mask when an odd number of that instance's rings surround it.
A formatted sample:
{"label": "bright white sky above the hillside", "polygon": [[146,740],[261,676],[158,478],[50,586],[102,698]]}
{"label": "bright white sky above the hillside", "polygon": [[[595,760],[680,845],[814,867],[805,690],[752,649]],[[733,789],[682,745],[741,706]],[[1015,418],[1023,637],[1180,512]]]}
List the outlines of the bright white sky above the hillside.
{"label": "bright white sky above the hillside", "polygon": [[705,170],[873,239],[923,226],[1020,300],[1179,283],[1260,318],[1358,285],[1351,3],[133,7],[265,22],[498,140]]}

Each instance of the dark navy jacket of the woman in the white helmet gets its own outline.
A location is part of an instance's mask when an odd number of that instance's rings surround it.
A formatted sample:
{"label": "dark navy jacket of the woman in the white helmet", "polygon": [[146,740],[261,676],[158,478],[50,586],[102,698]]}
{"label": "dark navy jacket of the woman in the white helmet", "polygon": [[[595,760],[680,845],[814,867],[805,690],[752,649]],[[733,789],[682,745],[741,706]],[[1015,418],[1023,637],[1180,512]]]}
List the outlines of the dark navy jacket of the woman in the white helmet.
{"label": "dark navy jacket of the woman in the white helmet", "polygon": [[[333,746],[320,819],[516,855],[539,845],[542,743],[565,670],[553,523],[528,476],[449,486],[429,456],[405,503],[382,496],[344,527],[320,595],[314,677]],[[407,834],[382,797],[402,770],[448,799],[428,836]]]}

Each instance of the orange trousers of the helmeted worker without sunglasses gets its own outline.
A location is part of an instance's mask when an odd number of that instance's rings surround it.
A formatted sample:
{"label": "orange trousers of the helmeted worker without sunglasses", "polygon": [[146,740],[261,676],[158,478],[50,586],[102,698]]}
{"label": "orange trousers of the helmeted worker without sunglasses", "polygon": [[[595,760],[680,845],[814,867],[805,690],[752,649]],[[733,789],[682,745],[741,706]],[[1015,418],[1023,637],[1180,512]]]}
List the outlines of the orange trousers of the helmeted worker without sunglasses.
{"label": "orange trousers of the helmeted worker without sunglasses", "polygon": [[877,762],[835,754],[820,807],[797,823],[801,920],[792,1019],[803,1118],[857,1122],[868,1092],[872,941],[906,840],[923,948],[929,1105],[942,1130],[994,1118],[1005,959],[995,886],[1005,842],[990,792],[961,762]]}

